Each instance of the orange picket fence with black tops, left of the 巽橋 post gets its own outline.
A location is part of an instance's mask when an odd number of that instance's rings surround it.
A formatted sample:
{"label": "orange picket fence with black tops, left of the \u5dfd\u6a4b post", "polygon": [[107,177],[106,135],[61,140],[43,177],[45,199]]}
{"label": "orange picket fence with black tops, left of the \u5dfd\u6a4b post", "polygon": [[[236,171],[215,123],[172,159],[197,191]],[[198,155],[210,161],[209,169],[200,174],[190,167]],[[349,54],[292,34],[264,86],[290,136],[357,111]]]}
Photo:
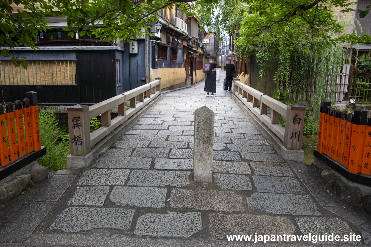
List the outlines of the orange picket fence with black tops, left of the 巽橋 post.
{"label": "orange picket fence with black tops, left of the \u5dfd\u6a4b post", "polygon": [[[8,133],[6,133],[8,131]],[[7,136],[8,134],[8,136]],[[1,166],[41,149],[37,93],[29,91],[23,101],[0,105]]]}

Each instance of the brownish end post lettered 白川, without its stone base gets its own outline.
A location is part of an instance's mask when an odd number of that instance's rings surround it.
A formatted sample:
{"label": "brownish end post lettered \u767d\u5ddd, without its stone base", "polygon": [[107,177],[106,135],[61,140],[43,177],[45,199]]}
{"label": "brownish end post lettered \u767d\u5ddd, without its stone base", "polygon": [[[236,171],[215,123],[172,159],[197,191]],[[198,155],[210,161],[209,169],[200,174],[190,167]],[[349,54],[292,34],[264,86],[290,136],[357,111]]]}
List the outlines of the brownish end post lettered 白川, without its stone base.
{"label": "brownish end post lettered \u767d\u5ddd, without its stone base", "polygon": [[301,150],[303,141],[305,107],[288,105],[286,108],[285,138],[283,145],[287,150]]}

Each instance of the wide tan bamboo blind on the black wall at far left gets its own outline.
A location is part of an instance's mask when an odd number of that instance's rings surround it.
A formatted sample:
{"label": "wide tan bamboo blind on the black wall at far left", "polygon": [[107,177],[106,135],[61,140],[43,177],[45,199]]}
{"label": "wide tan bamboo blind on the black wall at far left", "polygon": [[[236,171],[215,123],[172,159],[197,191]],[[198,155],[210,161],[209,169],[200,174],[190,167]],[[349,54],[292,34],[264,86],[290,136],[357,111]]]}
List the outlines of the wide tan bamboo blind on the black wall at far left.
{"label": "wide tan bamboo blind on the black wall at far left", "polygon": [[27,60],[27,69],[0,61],[0,85],[74,85],[75,60]]}

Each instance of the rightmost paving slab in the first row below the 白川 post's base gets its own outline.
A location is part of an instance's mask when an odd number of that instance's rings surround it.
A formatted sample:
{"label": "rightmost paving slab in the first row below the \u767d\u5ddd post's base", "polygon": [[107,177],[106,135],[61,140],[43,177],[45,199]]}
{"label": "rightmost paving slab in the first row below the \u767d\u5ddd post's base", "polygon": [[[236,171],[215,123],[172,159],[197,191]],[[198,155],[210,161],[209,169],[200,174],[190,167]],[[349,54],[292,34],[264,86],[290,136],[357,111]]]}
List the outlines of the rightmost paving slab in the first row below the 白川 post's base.
{"label": "rightmost paving slab in the first row below the \u767d\u5ddd post's base", "polygon": [[251,162],[255,175],[294,177],[288,164],[279,162]]}

